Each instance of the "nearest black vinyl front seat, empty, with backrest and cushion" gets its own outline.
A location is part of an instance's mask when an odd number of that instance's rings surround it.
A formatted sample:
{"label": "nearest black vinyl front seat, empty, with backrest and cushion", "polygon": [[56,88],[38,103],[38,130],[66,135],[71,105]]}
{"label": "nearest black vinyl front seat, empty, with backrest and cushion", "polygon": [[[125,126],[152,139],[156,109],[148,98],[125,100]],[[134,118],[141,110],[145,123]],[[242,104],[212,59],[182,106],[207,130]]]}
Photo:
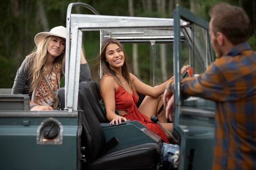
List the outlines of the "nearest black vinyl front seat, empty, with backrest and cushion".
{"label": "nearest black vinyl front seat, empty, with backrest and cushion", "polygon": [[[79,84],[79,105],[84,114],[82,120],[81,146],[85,147],[86,170],[156,170],[161,148],[158,143],[146,143],[124,148],[106,154],[106,140],[103,129],[94,115],[84,91],[85,83]],[[115,146],[114,146],[115,147]]]}

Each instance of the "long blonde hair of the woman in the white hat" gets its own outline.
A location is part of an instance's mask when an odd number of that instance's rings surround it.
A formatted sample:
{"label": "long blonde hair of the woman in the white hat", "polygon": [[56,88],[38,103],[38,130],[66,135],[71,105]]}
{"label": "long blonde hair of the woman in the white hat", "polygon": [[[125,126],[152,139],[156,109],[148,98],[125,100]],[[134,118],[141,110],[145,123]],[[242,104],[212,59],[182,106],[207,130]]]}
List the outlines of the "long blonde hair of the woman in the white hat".
{"label": "long blonde hair of the woman in the white hat", "polygon": [[[34,50],[26,56],[26,70],[28,72],[27,79],[31,79],[31,85],[29,92],[33,91],[35,86],[40,83],[41,75],[43,73],[43,67],[47,59],[47,47],[52,36],[47,37],[44,41],[41,41]],[[64,49],[65,51],[65,49]],[[61,71],[64,74],[65,55],[61,54],[55,58],[54,62],[61,62]]]}

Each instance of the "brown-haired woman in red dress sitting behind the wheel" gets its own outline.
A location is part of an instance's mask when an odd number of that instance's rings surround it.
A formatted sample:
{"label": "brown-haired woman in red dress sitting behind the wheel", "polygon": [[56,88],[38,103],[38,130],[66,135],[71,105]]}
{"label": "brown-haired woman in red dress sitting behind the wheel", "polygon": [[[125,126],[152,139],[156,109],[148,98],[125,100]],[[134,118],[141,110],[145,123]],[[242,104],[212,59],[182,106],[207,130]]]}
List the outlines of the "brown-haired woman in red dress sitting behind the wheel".
{"label": "brown-haired woman in red dress sitting behind the wheel", "polygon": [[[124,48],[114,38],[103,42],[100,61],[103,71],[100,82],[101,95],[110,124],[118,125],[127,119],[137,120],[160,136],[164,142],[169,143],[164,130],[150,120],[150,117],[156,115],[157,110],[162,106],[161,95],[164,93],[167,81],[155,87],[141,82],[130,73]],[[137,93],[146,95],[139,108],[136,106],[139,99]],[[120,115],[115,114],[115,108]],[[164,113],[160,113],[160,115],[165,118]],[[173,128],[173,125],[167,123],[166,119],[162,120],[161,124],[169,131]]]}

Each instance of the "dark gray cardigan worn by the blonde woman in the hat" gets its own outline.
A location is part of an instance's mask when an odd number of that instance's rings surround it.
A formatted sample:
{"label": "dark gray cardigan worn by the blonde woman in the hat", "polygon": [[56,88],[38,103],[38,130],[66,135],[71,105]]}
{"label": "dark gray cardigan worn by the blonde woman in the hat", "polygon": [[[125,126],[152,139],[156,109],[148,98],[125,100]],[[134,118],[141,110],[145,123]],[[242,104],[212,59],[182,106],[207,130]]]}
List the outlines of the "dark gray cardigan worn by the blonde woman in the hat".
{"label": "dark gray cardigan worn by the blonde woman in the hat", "polygon": [[[12,87],[11,94],[12,95],[29,95],[30,99],[32,96],[32,92],[29,92],[29,88],[31,85],[31,79],[27,79],[28,72],[25,69],[27,58],[22,62],[20,68],[18,68],[16,77],[14,79],[14,84]],[[63,73],[61,73],[61,77],[63,77]],[[88,63],[80,64],[80,77],[79,82],[91,80],[91,73]]]}

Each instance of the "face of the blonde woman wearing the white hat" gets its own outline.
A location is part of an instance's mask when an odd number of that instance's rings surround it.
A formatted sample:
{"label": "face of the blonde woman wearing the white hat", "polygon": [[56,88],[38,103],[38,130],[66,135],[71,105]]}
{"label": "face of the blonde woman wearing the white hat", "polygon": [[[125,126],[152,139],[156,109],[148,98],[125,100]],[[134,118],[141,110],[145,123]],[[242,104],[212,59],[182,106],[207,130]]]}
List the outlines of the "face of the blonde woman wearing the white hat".
{"label": "face of the blonde woman wearing the white hat", "polygon": [[52,36],[47,47],[47,52],[53,57],[58,57],[61,53],[64,53],[65,46],[66,40],[64,38]]}

